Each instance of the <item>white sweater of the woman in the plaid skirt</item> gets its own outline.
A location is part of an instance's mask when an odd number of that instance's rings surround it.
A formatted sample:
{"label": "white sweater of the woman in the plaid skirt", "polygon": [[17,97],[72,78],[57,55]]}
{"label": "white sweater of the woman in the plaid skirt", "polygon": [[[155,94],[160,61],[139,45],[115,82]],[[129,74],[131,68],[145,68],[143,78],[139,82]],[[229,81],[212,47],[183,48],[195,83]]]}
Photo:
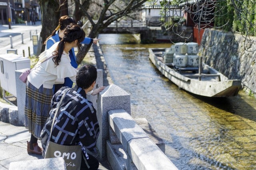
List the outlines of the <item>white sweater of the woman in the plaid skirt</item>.
{"label": "white sweater of the woman in the plaid skirt", "polygon": [[[52,45],[52,47],[44,51],[39,56],[39,61],[34,68],[32,68],[30,74],[28,75],[28,81],[35,86],[40,88],[52,88],[54,82],[57,78],[66,78],[69,77],[73,82],[76,82],[76,73],[78,70],[70,64],[69,54],[63,51],[60,63],[58,66],[55,66],[52,58],[45,61],[46,58],[52,57],[52,52],[56,49],[59,42]],[[45,61],[41,63],[42,61]]]}

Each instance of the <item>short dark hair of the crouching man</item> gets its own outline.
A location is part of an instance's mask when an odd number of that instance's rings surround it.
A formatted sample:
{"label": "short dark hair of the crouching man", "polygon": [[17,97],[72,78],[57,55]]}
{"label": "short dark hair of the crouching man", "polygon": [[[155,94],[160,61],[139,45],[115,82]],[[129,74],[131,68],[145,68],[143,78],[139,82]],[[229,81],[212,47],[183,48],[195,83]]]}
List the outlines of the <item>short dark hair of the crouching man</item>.
{"label": "short dark hair of the crouching man", "polygon": [[97,68],[86,64],[79,68],[76,74],[76,85],[82,89],[89,88],[97,78]]}

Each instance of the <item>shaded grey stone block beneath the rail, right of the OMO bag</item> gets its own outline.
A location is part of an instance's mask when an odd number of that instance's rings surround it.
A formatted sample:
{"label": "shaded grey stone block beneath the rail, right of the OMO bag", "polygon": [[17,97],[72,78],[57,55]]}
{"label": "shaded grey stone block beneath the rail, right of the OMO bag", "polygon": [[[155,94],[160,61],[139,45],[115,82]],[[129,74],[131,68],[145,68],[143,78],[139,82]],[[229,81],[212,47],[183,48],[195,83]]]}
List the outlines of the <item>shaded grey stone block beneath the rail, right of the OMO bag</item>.
{"label": "shaded grey stone block beneath the rail, right of the OMO bag", "polygon": [[125,162],[127,154],[122,144],[112,145],[109,140],[106,141],[106,150],[108,162],[112,170],[126,170]]}

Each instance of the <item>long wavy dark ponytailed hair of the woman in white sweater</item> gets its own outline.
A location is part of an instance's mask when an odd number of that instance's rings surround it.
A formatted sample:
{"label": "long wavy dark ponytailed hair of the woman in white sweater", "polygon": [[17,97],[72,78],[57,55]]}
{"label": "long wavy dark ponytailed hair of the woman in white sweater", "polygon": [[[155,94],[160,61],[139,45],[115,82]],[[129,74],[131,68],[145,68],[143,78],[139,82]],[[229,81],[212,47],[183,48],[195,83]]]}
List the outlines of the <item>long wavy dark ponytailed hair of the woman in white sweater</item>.
{"label": "long wavy dark ponytailed hair of the woman in white sweater", "polygon": [[80,43],[84,40],[84,37],[85,37],[84,30],[79,25],[77,25],[75,23],[71,23],[70,25],[68,25],[64,31],[64,37],[58,44],[56,50],[52,53],[52,55],[54,56],[54,57],[52,57],[54,64],[56,66],[59,65],[60,58],[64,51],[65,42],[72,43],[73,41],[78,40],[77,48],[78,48],[78,51],[80,51],[80,49],[82,47]]}

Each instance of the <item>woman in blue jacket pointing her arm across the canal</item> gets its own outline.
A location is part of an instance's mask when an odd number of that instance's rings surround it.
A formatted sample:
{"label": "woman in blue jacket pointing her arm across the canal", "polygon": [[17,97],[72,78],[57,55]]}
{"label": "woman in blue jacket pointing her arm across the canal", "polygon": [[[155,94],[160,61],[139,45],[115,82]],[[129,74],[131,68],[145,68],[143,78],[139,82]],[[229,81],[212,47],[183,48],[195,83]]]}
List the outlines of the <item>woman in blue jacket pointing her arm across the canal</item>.
{"label": "woman in blue jacket pointing her arm across the canal", "polygon": [[[56,29],[52,32],[52,34],[46,39],[46,41],[44,42],[44,44],[46,44],[46,49],[49,49],[50,47],[52,47],[52,45],[54,45],[54,43],[60,41],[62,39],[62,37],[64,36],[64,30],[65,28],[70,24],[70,23],[76,23],[74,18],[70,17],[70,16],[62,16],[60,17],[59,20],[59,25],[56,27]],[[96,44],[100,39],[92,39],[89,37],[85,37],[84,40],[81,42],[82,44],[90,44],[90,43],[94,43]],[[72,48],[69,51],[69,57],[70,57],[70,63],[74,68],[78,67],[78,64],[76,63],[76,55],[74,52],[74,48]],[[70,78],[65,78],[64,80],[64,84],[55,84],[54,85],[54,94],[55,92],[57,92],[62,86],[68,86],[70,88],[72,88],[73,82],[70,80]],[[96,95],[97,90],[94,90],[94,92],[92,92],[92,95]]]}

